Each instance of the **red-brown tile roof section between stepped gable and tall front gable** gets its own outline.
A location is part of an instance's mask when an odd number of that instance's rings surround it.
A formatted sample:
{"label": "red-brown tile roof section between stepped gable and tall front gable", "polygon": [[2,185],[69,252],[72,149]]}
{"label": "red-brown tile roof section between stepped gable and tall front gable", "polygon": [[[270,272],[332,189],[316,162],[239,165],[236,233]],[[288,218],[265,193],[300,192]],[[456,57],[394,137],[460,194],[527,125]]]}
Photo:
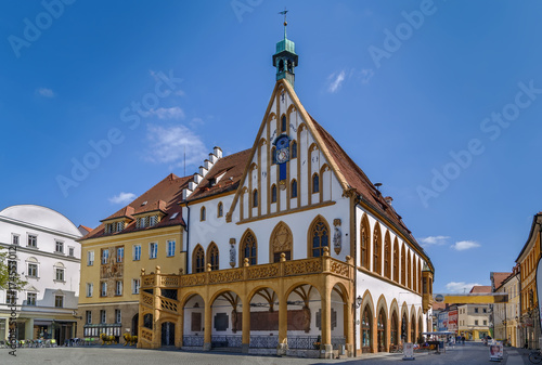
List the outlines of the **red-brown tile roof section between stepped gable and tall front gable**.
{"label": "red-brown tile roof section between stepped gable and tall front gable", "polygon": [[[189,196],[188,200],[194,201],[221,193],[235,192],[243,178],[245,166],[250,158],[250,152],[251,148],[220,158],[199,182],[197,190]],[[220,180],[216,182],[218,178]]]}

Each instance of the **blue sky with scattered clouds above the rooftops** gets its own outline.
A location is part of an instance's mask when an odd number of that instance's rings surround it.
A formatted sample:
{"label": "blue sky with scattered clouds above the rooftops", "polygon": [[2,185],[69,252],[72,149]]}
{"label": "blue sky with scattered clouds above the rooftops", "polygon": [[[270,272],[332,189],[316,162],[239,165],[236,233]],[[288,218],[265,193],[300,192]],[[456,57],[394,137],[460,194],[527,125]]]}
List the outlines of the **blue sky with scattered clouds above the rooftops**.
{"label": "blue sky with scattered clouds above the rooftops", "polygon": [[393,197],[435,291],[511,271],[542,210],[532,0],[4,2],[0,207],[93,227],[184,151],[192,174],[250,147],[285,5],[301,103]]}

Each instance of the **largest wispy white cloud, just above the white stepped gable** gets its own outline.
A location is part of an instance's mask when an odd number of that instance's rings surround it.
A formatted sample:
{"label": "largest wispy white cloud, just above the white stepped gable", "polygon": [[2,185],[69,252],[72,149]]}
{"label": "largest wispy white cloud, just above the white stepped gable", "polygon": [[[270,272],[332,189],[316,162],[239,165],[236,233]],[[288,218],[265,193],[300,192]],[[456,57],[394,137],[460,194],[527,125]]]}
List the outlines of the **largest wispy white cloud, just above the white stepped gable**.
{"label": "largest wispy white cloud, just above the white stepped gable", "polygon": [[149,125],[146,136],[151,145],[145,159],[151,162],[181,167],[184,164],[185,153],[186,166],[199,166],[208,157],[207,148],[199,135],[184,126]]}

